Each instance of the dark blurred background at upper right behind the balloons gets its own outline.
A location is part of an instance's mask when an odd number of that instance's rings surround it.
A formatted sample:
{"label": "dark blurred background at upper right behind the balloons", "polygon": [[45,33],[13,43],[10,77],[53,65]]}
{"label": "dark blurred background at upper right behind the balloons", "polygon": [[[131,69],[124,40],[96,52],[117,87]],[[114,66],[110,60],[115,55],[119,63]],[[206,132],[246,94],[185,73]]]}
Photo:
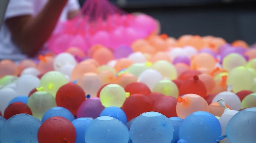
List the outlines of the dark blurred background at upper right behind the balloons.
{"label": "dark blurred background at upper right behind the balloons", "polygon": [[[84,0],[79,0],[80,4]],[[256,0],[110,0],[127,12],[143,12],[161,23],[161,32],[213,35],[228,42],[256,42]]]}

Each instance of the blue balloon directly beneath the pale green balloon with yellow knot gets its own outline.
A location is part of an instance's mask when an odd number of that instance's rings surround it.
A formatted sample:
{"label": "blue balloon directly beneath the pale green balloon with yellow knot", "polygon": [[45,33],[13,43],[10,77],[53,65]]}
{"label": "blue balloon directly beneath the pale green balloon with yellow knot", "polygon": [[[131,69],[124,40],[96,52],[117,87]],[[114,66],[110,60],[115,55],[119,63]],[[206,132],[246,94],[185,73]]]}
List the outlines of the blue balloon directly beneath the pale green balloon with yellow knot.
{"label": "blue balloon directly beneath the pale green balloon with yellow knot", "polygon": [[127,117],[124,111],[118,107],[107,107],[101,111],[100,116],[110,116],[113,118],[118,119],[119,121],[123,122],[124,125],[127,123]]}

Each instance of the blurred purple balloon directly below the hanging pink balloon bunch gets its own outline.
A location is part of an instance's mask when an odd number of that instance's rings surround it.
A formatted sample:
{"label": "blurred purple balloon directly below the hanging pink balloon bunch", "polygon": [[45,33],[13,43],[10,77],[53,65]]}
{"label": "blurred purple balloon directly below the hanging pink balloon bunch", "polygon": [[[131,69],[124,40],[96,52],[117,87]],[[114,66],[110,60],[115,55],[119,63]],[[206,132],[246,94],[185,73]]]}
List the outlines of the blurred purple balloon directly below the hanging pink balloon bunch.
{"label": "blurred purple balloon directly below the hanging pink balloon bunch", "polygon": [[129,46],[119,46],[115,51],[114,51],[114,57],[115,59],[121,59],[121,58],[126,58],[130,54],[133,53],[133,50]]}

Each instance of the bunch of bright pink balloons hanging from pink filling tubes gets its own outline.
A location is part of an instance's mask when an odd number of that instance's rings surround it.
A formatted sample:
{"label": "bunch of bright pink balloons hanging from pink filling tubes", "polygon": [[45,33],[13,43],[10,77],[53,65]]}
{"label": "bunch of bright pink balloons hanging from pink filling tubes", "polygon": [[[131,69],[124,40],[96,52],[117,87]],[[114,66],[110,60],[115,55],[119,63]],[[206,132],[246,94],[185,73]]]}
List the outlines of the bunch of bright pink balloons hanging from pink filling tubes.
{"label": "bunch of bright pink balloons hanging from pink filling tubes", "polygon": [[158,32],[157,28],[156,20],[146,14],[128,14],[108,0],[86,0],[76,18],[57,25],[48,46],[57,54],[72,46],[87,52],[95,44],[114,50]]}

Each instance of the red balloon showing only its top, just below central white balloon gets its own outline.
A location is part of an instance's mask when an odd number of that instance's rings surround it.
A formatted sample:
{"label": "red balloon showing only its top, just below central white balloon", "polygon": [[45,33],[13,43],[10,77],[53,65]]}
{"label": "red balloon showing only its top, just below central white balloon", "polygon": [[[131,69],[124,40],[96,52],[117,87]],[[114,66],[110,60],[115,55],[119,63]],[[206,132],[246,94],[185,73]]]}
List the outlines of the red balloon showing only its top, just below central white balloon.
{"label": "red balloon showing only its top, just below central white balloon", "polygon": [[124,88],[126,92],[130,92],[130,94],[143,94],[143,95],[148,95],[151,93],[150,89],[148,86],[142,82],[133,82]]}

